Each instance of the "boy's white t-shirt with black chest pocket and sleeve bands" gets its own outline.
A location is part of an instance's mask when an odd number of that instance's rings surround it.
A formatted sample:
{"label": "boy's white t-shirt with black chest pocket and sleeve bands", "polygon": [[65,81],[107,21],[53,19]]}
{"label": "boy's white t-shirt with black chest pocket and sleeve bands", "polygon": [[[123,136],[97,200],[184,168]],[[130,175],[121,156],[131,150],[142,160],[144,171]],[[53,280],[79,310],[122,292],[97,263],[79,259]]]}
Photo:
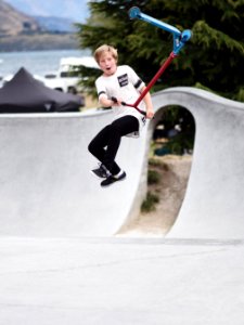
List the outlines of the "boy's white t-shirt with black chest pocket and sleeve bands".
{"label": "boy's white t-shirt with black chest pocket and sleeve bands", "polygon": [[[121,99],[123,102],[133,104],[139,95],[140,90],[145,83],[138,77],[134,70],[128,65],[117,66],[116,73],[112,76],[100,76],[95,80],[98,96],[106,94],[108,99],[112,96]],[[130,106],[112,106],[115,118],[120,118],[126,115],[132,115],[139,120],[139,132],[145,125],[145,117],[136,108]],[[141,101],[138,108],[145,112],[145,104]],[[130,134],[138,136],[139,134]]]}

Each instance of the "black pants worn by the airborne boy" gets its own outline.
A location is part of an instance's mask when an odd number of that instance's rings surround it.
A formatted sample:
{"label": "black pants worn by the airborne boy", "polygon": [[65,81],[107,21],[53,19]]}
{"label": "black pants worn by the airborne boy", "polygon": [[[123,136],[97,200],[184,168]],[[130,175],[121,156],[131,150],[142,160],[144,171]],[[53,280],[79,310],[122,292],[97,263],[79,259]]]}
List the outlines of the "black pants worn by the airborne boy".
{"label": "black pants worn by the airborne boy", "polygon": [[115,157],[121,136],[138,130],[139,121],[134,116],[123,116],[102,129],[90,142],[88,150],[112,174],[117,174],[120,168],[115,162]]}

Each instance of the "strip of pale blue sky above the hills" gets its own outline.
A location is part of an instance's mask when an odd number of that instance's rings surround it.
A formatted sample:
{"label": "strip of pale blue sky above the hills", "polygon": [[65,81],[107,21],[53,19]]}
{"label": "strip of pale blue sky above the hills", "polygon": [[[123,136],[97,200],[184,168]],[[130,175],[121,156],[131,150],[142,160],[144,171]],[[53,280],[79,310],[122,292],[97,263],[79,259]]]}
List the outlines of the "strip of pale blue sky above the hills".
{"label": "strip of pale blue sky above the hills", "polygon": [[56,16],[84,23],[89,16],[88,0],[4,0],[28,15]]}

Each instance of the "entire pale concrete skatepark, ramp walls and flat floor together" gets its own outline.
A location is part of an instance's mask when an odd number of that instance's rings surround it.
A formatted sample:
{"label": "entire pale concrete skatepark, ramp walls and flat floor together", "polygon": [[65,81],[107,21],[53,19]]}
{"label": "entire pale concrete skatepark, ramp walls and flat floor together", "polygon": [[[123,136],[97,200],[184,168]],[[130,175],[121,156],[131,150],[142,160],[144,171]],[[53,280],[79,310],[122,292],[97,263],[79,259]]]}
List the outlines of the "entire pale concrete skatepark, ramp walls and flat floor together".
{"label": "entire pale concrete skatepark, ramp walls and flat floor together", "polygon": [[[242,325],[244,104],[156,93],[155,119],[124,139],[125,182],[100,188],[87,145],[111,118],[0,116],[1,325]],[[167,105],[196,121],[185,199],[166,238],[113,236],[146,191],[147,145]]]}

